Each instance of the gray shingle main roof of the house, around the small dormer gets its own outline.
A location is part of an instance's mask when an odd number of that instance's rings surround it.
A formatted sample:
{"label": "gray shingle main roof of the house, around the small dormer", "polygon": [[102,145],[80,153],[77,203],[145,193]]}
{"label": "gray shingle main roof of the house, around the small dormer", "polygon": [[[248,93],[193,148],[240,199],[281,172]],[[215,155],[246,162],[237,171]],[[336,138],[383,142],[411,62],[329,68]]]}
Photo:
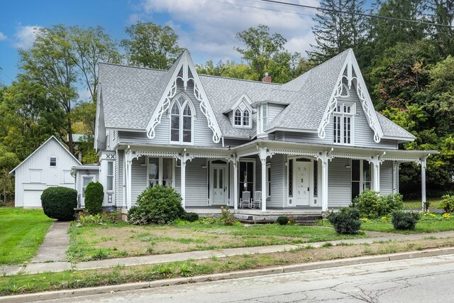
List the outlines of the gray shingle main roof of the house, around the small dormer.
{"label": "gray shingle main roof of the house, around the small dormer", "polygon": [[[199,78],[225,137],[250,138],[255,133],[256,114],[253,114],[252,130],[234,128],[228,116],[223,114],[244,93],[248,94],[253,103],[271,101],[289,104],[268,124],[267,129],[279,127],[316,130],[347,55],[348,50],[345,50],[286,84],[207,75],[199,75]],[[106,128],[145,130],[172,72],[174,70],[101,63],[99,82]],[[414,138],[411,133],[384,116],[378,115],[378,118],[384,136]]]}

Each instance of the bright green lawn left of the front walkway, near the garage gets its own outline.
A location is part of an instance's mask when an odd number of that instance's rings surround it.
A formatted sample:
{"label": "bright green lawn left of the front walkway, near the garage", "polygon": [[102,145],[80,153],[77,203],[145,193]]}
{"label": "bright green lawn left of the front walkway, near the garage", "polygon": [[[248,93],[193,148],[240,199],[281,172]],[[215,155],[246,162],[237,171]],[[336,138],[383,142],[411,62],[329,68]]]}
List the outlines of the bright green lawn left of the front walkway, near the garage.
{"label": "bright green lawn left of the front walkway, near the garage", "polygon": [[30,261],[52,222],[40,209],[0,208],[0,265]]}

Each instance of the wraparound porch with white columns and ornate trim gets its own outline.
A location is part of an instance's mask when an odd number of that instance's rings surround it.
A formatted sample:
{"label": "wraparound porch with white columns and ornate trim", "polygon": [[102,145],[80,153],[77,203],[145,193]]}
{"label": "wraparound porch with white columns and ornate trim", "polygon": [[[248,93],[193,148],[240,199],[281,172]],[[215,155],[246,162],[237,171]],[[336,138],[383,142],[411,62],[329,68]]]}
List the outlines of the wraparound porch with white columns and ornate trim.
{"label": "wraparound porch with white columns and ornate trim", "polygon": [[[166,184],[182,194],[186,209],[228,205],[238,210],[241,193],[247,190],[252,197],[255,192],[261,194],[261,208],[253,212],[327,211],[347,206],[354,194],[366,188],[384,194],[399,192],[400,162],[421,165],[422,205],[426,158],[433,153],[437,152],[267,140],[236,148],[127,145],[120,167],[125,172],[123,201],[117,206],[129,209],[145,187]],[[153,172],[150,165],[155,165]]]}

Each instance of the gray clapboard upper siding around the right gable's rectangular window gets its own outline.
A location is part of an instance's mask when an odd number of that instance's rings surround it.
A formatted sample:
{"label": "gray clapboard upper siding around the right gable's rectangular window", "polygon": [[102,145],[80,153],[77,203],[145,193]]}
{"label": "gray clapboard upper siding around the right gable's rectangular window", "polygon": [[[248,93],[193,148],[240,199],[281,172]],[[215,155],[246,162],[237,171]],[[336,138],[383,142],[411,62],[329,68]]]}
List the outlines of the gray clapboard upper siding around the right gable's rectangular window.
{"label": "gray clapboard upper siding around the right gable's rectangular window", "polygon": [[[369,124],[355,87],[352,84],[350,89],[350,97],[338,98],[338,103],[349,102],[355,104],[356,114],[353,118],[353,131],[354,131],[354,145],[366,148],[387,148],[397,149],[397,141],[382,139],[380,143],[375,143],[374,132],[370,129]],[[296,133],[286,131],[285,133],[277,132],[275,140],[279,141],[292,141],[301,143],[323,143],[333,144],[333,115],[331,115],[330,123],[326,126],[326,137],[319,138],[318,133]]]}

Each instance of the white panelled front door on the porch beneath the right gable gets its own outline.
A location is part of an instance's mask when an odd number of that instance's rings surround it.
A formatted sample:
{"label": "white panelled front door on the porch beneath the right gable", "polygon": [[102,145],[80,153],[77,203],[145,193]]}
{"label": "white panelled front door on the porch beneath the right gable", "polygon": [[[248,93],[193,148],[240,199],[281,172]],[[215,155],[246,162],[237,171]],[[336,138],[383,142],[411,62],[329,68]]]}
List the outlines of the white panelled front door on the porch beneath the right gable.
{"label": "white panelled front door on the porch beneath the right gable", "polygon": [[311,189],[311,162],[294,162],[294,197],[296,206],[309,206]]}

